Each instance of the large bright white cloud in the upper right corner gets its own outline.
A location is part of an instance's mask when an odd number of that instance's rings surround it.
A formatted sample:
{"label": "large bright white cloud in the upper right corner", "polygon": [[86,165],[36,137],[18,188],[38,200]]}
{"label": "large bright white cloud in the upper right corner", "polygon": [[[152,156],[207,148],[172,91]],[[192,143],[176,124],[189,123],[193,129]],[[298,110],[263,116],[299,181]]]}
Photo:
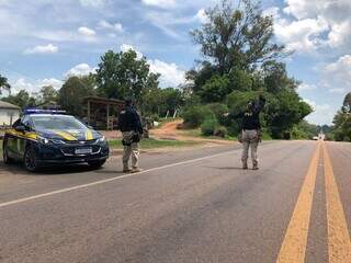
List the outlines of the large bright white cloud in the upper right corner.
{"label": "large bright white cloud in the upper right corner", "polygon": [[[282,36],[282,42],[299,50],[331,47],[342,53],[350,49],[351,1],[286,0],[285,2],[283,12],[292,19],[287,18],[288,21],[275,19],[278,36],[279,38]],[[291,31],[295,31],[296,34],[288,37]]]}

